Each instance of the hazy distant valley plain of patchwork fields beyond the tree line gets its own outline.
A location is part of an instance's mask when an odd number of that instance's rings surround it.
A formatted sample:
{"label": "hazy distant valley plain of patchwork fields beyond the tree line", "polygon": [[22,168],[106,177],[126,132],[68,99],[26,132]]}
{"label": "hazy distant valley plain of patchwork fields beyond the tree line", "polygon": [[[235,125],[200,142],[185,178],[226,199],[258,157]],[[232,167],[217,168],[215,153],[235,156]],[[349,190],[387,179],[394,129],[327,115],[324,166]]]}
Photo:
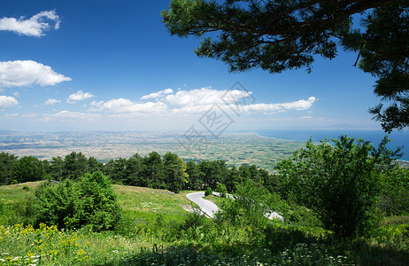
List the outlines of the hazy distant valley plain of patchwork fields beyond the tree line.
{"label": "hazy distant valley plain of patchwork fields beyond the tree line", "polygon": [[152,151],[176,153],[183,160],[226,160],[229,167],[255,164],[274,171],[278,160],[289,157],[304,142],[260,137],[255,133],[225,133],[220,137],[153,132],[56,132],[0,134],[0,151],[42,160],[81,152],[101,162],[143,156]]}

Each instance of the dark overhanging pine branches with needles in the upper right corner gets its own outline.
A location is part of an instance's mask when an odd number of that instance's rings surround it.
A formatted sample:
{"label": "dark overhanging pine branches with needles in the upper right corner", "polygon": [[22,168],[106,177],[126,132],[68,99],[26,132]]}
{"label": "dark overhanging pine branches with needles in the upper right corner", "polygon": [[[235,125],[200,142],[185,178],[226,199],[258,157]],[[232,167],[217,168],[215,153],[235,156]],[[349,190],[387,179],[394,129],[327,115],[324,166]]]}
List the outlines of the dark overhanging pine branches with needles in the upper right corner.
{"label": "dark overhanging pine branches with needles in the upper right corner", "polygon": [[[206,36],[197,56],[220,59],[232,72],[311,71],[314,56],[334,59],[339,43],[358,52],[359,67],[378,78],[374,93],[392,103],[371,110],[390,131],[409,122],[408,6],[407,0],[172,0],[161,14],[171,35]],[[354,29],[352,16],[363,12]]]}

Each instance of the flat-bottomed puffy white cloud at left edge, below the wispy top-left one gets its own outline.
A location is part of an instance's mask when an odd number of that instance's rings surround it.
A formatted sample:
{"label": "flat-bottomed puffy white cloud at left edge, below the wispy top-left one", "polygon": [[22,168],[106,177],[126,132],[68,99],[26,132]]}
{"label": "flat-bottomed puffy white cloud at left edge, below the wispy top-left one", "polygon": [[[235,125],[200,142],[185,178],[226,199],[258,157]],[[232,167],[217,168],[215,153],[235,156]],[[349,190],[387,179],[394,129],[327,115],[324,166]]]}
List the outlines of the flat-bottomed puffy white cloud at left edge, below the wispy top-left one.
{"label": "flat-bottomed puffy white cloud at left edge, below the wispy top-left one", "polygon": [[31,60],[0,62],[0,86],[20,87],[30,84],[41,86],[55,85],[72,79],[58,74],[50,66]]}

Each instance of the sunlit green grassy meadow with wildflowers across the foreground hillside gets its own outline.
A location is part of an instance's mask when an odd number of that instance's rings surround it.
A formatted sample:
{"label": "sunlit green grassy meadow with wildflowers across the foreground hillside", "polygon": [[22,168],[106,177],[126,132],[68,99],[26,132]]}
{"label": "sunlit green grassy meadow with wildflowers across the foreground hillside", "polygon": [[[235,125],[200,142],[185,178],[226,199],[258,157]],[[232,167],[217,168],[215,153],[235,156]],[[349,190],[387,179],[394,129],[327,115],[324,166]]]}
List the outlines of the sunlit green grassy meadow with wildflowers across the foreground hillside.
{"label": "sunlit green grassy meadow with wildflowers across the foreground hillside", "polygon": [[[371,236],[336,239],[319,226],[218,223],[186,208],[189,191],[114,184],[122,207],[114,231],[24,223],[41,182],[0,186],[0,264],[6,265],[406,265],[409,217],[382,220]],[[223,200],[212,196],[212,201]]]}

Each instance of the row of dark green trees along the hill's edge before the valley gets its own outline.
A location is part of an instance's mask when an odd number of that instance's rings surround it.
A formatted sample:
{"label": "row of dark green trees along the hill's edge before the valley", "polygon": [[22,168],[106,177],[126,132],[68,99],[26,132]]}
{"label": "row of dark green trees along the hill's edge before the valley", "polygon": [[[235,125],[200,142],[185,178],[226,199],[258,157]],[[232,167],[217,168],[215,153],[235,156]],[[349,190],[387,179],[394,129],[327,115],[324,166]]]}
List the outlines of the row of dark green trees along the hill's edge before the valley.
{"label": "row of dark green trees along the hill's edge before the valley", "polygon": [[218,184],[224,184],[228,192],[233,192],[237,184],[243,184],[249,179],[264,184],[270,191],[276,191],[279,186],[276,175],[255,165],[228,168],[225,160],[185,163],[175,153],[161,156],[157,152],[151,152],[145,157],[135,153],[129,159],[112,159],[105,164],[94,157],[87,158],[83,153],[75,152],[65,158],[58,156],[51,160],[39,160],[33,156],[18,158],[13,154],[0,153],[0,184],[78,179],[86,173],[96,171],[102,171],[112,183],[172,192],[204,190],[207,187],[215,190]]}

